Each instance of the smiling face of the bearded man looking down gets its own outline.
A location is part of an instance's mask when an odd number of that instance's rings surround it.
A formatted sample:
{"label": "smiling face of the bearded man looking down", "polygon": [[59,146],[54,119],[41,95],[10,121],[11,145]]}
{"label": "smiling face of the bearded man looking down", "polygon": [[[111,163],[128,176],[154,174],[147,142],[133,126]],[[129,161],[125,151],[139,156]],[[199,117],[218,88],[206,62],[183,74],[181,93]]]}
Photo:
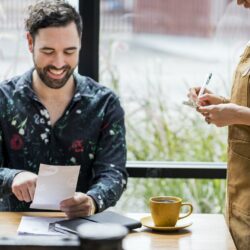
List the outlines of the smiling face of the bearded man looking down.
{"label": "smiling face of the bearded man looking down", "polygon": [[34,41],[27,34],[38,76],[49,88],[63,87],[78,64],[80,38],[75,23],[40,29]]}

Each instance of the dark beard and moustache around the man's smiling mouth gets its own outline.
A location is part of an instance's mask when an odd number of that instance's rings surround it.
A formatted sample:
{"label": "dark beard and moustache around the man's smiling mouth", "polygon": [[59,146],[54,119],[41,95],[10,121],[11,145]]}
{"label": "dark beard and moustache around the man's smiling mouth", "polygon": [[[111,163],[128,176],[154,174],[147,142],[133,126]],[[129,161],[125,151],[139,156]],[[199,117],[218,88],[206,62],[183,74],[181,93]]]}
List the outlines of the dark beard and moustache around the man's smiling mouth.
{"label": "dark beard and moustache around the man's smiling mouth", "polygon": [[[44,68],[39,68],[36,64],[35,64],[35,69],[37,71],[38,76],[43,81],[43,83],[47,87],[52,88],[52,89],[62,88],[67,83],[67,81],[69,80],[69,78],[71,77],[71,75],[73,74],[73,72],[75,70],[75,68],[71,68],[69,65],[65,65],[62,68],[58,69],[53,65],[48,65]],[[53,78],[49,77],[49,75],[48,75],[48,71],[50,69],[63,70],[64,72],[66,72],[66,74],[61,79],[53,79]]]}

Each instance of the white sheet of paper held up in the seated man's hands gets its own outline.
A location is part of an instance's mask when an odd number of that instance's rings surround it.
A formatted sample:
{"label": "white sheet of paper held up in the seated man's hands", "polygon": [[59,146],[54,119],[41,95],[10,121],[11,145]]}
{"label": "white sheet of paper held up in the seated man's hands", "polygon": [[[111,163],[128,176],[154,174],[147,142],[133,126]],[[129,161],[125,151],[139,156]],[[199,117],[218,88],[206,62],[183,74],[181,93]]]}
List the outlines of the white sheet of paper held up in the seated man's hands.
{"label": "white sheet of paper held up in the seated man's hands", "polygon": [[60,202],[75,194],[79,170],[79,165],[40,164],[34,200],[30,208],[60,210]]}

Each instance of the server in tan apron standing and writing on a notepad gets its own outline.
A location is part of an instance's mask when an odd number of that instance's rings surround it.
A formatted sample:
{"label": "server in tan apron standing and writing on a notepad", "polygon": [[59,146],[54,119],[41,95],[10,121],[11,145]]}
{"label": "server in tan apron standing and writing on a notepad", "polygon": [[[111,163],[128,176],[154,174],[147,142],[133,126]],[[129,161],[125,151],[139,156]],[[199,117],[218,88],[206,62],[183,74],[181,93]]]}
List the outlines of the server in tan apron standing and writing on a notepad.
{"label": "server in tan apron standing and writing on a notepad", "polygon": [[[250,0],[238,0],[250,7]],[[229,126],[227,219],[239,250],[250,249],[250,44],[237,66],[230,101],[206,90],[198,100],[200,88],[189,97],[201,106],[198,111],[208,124]]]}

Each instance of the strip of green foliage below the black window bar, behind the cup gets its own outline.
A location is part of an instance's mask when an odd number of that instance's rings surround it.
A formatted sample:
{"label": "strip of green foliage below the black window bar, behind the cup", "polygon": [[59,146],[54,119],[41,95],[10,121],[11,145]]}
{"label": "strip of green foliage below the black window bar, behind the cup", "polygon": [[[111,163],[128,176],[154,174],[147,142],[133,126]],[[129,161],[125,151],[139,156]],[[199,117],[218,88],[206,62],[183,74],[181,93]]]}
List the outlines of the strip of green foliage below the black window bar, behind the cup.
{"label": "strip of green foliage below the black window bar, behind the cup", "polygon": [[116,209],[148,212],[149,198],[161,195],[182,197],[193,204],[197,213],[221,213],[225,203],[225,180],[130,178]]}

